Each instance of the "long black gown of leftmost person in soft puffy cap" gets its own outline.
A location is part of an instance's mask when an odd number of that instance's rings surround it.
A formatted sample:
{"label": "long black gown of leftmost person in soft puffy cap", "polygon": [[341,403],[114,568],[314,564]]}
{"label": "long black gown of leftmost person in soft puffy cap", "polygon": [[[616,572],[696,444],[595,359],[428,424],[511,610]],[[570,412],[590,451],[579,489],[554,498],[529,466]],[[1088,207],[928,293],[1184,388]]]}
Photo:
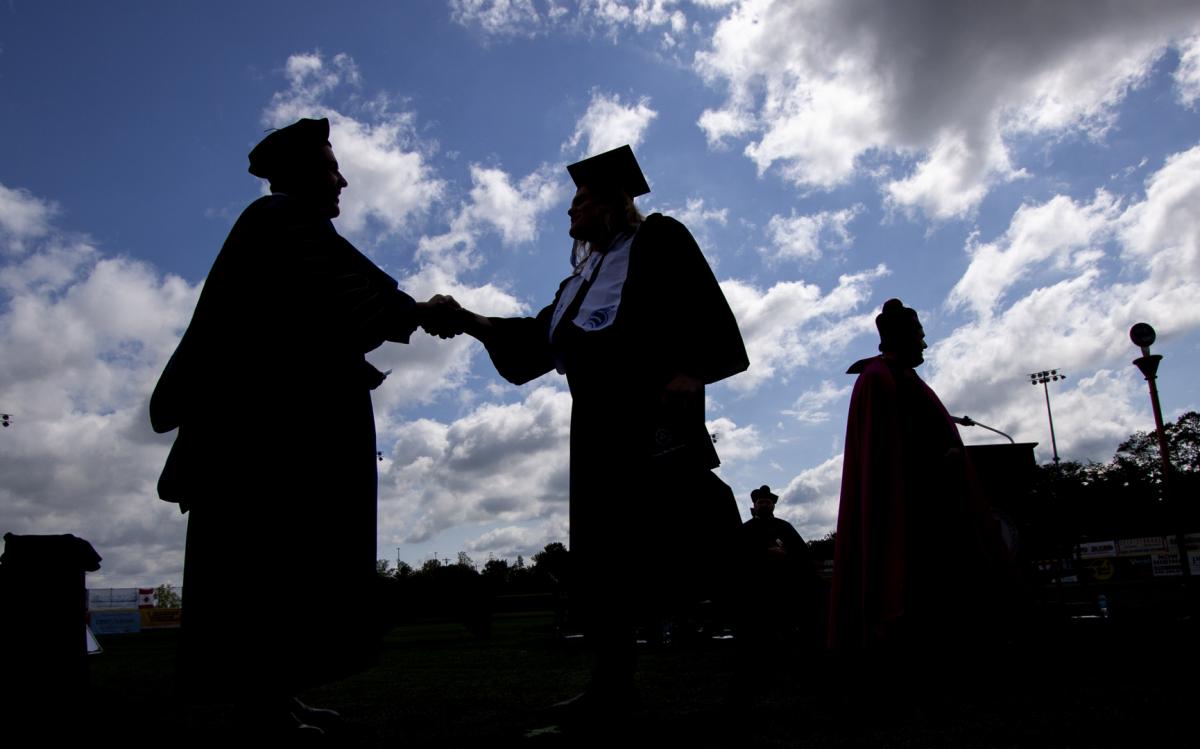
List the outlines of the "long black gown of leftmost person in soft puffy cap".
{"label": "long black gown of leftmost person in soft puffy cap", "polygon": [[294,694],[371,658],[376,442],[364,354],[414,301],[312,206],[238,220],[150,402],[179,429],[160,496],[190,513],[180,671],[221,701]]}

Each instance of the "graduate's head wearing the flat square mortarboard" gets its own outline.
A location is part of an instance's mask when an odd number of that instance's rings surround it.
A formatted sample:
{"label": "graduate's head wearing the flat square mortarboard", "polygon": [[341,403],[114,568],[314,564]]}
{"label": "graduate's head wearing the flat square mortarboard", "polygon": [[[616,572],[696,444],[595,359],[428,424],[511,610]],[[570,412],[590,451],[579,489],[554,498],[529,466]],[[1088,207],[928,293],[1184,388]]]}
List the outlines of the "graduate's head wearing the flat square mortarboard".
{"label": "graduate's head wearing the flat square mortarboard", "polygon": [[575,198],[566,215],[569,234],[576,242],[575,262],[586,257],[581,248],[604,248],[616,234],[636,227],[642,214],[634,198],[650,191],[628,145],[584,158],[566,167],[575,181]]}

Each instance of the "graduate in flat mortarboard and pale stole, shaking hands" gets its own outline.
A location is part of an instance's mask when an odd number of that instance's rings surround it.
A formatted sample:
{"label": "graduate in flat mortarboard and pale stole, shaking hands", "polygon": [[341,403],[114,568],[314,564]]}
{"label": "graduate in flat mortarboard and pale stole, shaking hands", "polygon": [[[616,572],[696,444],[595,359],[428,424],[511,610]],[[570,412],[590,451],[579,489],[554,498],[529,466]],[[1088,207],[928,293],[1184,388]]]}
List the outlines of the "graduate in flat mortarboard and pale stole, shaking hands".
{"label": "graduate in flat mortarboard and pale stole, shaking hands", "polygon": [[571,390],[575,585],[598,652],[580,712],[628,707],[634,622],[737,543],[740,519],[704,426],[704,385],[748,366],[737,320],[678,221],[643,218],[629,146],[568,167],[572,272],[527,318],[468,313],[466,331],[521,384],[557,370]]}

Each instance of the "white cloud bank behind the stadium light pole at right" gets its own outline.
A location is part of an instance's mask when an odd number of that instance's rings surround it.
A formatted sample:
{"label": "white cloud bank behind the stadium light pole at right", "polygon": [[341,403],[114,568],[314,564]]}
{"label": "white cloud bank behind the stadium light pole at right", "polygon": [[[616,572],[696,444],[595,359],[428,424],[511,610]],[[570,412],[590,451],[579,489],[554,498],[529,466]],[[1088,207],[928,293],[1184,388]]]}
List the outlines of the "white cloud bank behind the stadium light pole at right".
{"label": "white cloud bank behind the stadium light pole at right", "polygon": [[1200,328],[1198,206],[1200,146],[1169,157],[1142,200],[1056,196],[1021,206],[996,240],[973,240],[947,300],[970,319],[926,355],[942,401],[1044,451],[1044,402],[1028,373],[1060,368],[1068,379],[1050,385],[1060,454],[1111,457],[1114,443],[1145,429],[1129,326]]}

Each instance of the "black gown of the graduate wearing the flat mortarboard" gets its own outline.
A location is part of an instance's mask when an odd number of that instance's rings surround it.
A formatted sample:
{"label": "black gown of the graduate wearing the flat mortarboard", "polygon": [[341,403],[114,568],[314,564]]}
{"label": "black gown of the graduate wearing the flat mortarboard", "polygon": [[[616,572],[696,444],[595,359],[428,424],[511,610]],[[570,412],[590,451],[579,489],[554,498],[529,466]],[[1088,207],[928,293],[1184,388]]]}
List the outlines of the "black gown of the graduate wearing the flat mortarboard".
{"label": "black gown of the graduate wearing the flat mortarboard", "polygon": [[673,218],[655,214],[638,228],[614,322],[584,331],[575,306],[552,343],[565,284],[536,317],[493,318],[486,346],[515,384],[554,368],[556,355],[566,374],[572,587],[584,616],[595,616],[665,589],[683,594],[682,582],[701,585],[691,573],[731,561],[713,556],[732,553],[740,517],[710,471],[719,460],[703,399],[671,408],[664,393],[679,373],[710,384],[749,360],[712,269]]}

